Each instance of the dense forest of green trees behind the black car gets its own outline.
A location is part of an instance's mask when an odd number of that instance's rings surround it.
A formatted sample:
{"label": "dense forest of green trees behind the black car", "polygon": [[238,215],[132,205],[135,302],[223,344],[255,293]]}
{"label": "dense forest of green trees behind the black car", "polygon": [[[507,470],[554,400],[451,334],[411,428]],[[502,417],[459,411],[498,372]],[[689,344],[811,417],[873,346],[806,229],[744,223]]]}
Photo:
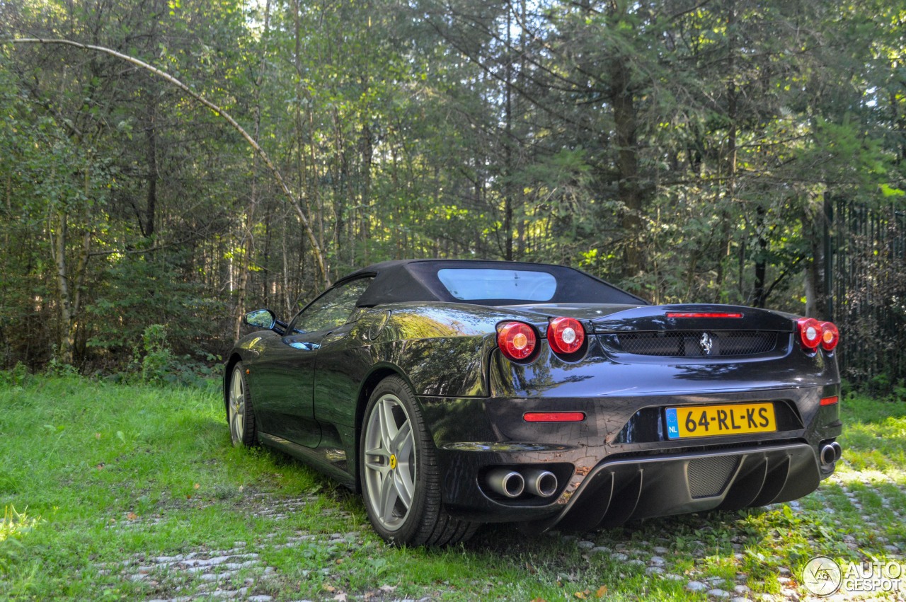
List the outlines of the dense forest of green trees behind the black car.
{"label": "dense forest of green trees behind the black car", "polygon": [[904,61],[903,0],[0,1],[0,368],[477,257],[834,320],[906,393]]}

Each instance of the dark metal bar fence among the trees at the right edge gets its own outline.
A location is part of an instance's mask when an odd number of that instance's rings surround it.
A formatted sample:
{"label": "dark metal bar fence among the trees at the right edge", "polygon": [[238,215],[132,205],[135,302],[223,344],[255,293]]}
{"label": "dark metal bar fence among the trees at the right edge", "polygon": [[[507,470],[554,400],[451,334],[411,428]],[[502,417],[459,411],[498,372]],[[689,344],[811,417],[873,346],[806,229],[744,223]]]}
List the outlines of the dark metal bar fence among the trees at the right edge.
{"label": "dark metal bar fence among the trees at the right edge", "polygon": [[843,377],[878,390],[906,380],[906,212],[843,199],[825,205],[830,311]]}

